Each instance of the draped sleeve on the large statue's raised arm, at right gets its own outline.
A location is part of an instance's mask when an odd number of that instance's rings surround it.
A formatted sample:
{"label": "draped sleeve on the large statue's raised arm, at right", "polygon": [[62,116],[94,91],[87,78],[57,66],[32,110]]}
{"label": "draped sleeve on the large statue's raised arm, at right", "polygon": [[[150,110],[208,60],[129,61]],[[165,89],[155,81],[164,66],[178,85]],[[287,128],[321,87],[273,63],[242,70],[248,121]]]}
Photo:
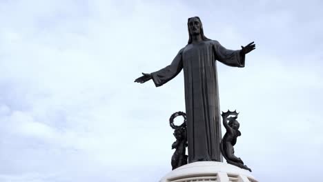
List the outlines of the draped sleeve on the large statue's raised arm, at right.
{"label": "draped sleeve on the large statue's raised arm, at right", "polygon": [[221,63],[233,67],[244,67],[245,55],[240,54],[240,50],[228,50],[224,48],[218,41],[213,41],[213,49],[215,57]]}

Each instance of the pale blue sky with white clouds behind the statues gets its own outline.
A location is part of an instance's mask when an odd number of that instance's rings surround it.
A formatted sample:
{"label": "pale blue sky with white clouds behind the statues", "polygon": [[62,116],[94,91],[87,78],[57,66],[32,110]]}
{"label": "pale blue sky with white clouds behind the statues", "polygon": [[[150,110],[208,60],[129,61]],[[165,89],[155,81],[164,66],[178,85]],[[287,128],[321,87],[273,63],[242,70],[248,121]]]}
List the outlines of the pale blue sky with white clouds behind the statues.
{"label": "pale blue sky with white clouds behind the statues", "polygon": [[[159,181],[184,77],[134,83],[188,41],[187,19],[224,47],[255,41],[245,68],[217,63],[235,154],[258,181],[323,172],[322,1],[0,0],[0,181]],[[222,134],[225,130],[222,128]]]}

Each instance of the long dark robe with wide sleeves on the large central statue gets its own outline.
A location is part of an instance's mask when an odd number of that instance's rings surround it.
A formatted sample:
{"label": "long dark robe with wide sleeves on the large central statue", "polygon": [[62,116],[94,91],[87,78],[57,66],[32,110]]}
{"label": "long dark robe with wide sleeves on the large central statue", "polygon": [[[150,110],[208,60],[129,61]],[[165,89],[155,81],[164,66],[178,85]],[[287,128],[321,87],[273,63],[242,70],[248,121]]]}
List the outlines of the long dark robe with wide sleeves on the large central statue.
{"label": "long dark robe with wide sleeves on the large central statue", "polygon": [[244,67],[244,54],[227,50],[218,41],[190,43],[179,50],[170,65],[151,73],[161,86],[184,70],[188,162],[222,161],[222,138],[216,60]]}

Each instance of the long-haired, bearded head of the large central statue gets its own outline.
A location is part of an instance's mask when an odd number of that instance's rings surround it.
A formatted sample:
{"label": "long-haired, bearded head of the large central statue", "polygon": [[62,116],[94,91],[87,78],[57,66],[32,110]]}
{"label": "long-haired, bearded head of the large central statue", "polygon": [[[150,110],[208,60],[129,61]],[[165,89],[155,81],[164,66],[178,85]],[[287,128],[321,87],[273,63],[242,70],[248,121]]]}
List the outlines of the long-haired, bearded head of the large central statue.
{"label": "long-haired, bearded head of the large central statue", "polygon": [[189,36],[188,44],[192,43],[193,35],[201,34],[202,40],[204,41],[210,40],[204,36],[202,21],[201,19],[199,19],[199,17],[189,18],[187,22],[187,28],[188,28],[188,36]]}

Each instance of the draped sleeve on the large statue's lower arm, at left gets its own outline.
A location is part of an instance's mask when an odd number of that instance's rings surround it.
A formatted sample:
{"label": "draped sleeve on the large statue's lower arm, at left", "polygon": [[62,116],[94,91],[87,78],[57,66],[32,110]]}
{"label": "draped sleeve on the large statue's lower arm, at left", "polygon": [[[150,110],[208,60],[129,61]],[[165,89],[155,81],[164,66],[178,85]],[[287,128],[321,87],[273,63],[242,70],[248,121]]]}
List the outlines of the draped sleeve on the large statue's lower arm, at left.
{"label": "draped sleeve on the large statue's lower arm, at left", "polygon": [[171,79],[177,76],[179,72],[181,72],[183,68],[183,61],[182,61],[182,54],[183,50],[179,50],[176,57],[173,59],[172,63],[170,65],[166,66],[165,68],[157,71],[152,72],[151,76],[153,77],[153,81],[156,85],[156,87],[159,87],[161,85],[164,85]]}

